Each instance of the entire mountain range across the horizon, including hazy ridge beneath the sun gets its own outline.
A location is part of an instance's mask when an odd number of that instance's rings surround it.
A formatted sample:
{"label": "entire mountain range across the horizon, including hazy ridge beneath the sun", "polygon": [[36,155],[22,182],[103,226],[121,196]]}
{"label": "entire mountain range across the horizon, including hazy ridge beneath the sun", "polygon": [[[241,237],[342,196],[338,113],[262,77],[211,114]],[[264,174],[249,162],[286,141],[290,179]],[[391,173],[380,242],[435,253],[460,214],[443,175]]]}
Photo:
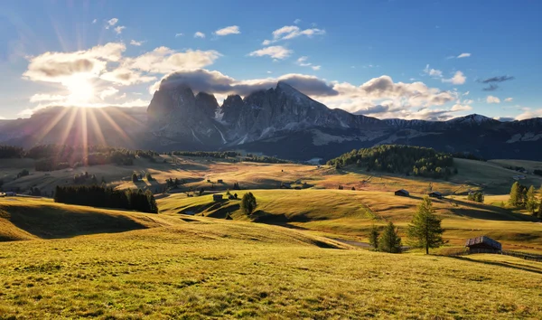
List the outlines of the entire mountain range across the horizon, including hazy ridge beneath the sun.
{"label": "entire mountain range across the horizon, including hazy ridge beneath the sun", "polygon": [[380,144],[429,146],[485,158],[542,159],[542,118],[501,122],[378,119],[327,108],[285,82],[220,105],[185,83],[163,81],[148,108],[45,108],[0,121],[0,143],[100,144],[171,150],[243,150],[294,160],[329,159]]}

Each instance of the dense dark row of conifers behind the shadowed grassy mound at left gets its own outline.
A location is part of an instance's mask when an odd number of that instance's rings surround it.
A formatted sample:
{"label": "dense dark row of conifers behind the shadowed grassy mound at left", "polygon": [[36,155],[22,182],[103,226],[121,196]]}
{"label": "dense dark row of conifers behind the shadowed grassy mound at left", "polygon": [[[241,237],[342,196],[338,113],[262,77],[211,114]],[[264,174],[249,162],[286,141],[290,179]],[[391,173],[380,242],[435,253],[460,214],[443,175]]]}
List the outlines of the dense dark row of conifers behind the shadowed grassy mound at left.
{"label": "dense dark row of conifers behind the shadowed grassy mound at left", "polygon": [[154,194],[141,189],[123,191],[99,185],[57,185],[54,202],[158,213]]}

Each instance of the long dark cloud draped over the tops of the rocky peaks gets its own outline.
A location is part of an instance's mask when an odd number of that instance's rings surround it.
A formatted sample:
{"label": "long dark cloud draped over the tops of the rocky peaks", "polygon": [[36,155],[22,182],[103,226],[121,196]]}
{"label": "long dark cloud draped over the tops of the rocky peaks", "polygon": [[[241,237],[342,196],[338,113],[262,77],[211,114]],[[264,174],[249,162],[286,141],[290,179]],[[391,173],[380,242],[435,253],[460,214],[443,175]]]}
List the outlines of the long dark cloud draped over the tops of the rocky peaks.
{"label": "long dark cloud draped over the tops of the rocky peaks", "polygon": [[257,90],[274,88],[279,80],[284,81],[306,95],[336,96],[339,94],[339,92],[325,81],[303,74],[287,74],[278,79],[238,81],[225,76],[219,71],[207,71],[204,69],[171,73],[160,82],[160,89],[186,85],[195,92],[235,93],[240,96],[247,96]]}

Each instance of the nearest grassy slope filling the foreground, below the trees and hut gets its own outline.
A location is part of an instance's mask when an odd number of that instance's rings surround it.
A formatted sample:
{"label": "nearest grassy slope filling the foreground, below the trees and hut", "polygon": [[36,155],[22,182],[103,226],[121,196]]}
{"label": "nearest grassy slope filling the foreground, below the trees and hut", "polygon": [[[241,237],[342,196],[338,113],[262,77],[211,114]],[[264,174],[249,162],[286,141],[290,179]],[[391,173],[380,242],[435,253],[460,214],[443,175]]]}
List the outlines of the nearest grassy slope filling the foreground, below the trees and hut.
{"label": "nearest grassy slope filling the foreground, below the trees and hut", "polygon": [[0,318],[540,318],[542,265],[322,249],[299,231],[176,227],[0,243]]}

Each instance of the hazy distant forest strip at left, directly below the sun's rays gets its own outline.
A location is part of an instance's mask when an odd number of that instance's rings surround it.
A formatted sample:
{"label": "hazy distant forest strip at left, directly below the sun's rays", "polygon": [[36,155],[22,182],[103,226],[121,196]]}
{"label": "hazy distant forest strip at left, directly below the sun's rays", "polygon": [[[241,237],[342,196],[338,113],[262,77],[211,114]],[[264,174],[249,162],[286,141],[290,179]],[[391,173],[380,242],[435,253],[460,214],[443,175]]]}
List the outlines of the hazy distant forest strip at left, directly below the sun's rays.
{"label": "hazy distant forest strip at left, directly below the sun's rays", "polygon": [[82,165],[134,165],[136,157],[153,159],[154,151],[129,150],[111,146],[33,146],[23,153],[24,157],[36,159],[36,171],[53,171],[77,168]]}

